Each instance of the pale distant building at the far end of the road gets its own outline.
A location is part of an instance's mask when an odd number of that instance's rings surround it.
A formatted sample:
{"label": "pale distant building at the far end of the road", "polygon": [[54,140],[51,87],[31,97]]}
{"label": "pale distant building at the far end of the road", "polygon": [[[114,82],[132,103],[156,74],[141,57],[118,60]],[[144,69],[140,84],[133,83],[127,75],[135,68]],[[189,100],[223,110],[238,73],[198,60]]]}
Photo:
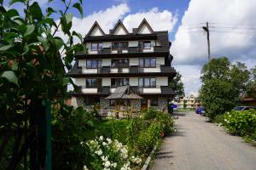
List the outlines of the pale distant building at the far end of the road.
{"label": "pale distant building at the far end of the road", "polygon": [[195,109],[201,106],[201,103],[194,95],[190,95],[189,97],[180,97],[178,99],[173,99],[172,103],[177,105],[178,109]]}

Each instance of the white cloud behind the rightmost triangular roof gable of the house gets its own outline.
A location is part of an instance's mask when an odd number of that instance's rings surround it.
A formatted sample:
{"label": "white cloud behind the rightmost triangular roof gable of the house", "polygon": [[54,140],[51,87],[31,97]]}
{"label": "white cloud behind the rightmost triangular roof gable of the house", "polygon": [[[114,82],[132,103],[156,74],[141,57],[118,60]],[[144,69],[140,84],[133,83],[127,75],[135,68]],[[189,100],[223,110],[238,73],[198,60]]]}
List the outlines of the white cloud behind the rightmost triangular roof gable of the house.
{"label": "white cloud behind the rightmost triangular roof gable of the house", "polygon": [[177,15],[173,15],[171,11],[160,11],[158,8],[151,8],[147,12],[138,12],[136,14],[129,14],[125,17],[123,23],[128,31],[132,28],[137,28],[146,18],[149,25],[154,31],[172,31],[173,26],[177,23]]}

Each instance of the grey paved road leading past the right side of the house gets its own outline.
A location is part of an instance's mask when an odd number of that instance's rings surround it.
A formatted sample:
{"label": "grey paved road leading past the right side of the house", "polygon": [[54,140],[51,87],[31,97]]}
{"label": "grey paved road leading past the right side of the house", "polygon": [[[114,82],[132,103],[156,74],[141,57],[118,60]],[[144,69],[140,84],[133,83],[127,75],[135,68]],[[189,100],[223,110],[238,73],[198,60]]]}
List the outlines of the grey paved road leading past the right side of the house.
{"label": "grey paved road leading past the right side of the house", "polygon": [[256,147],[194,112],[177,116],[177,133],[164,139],[151,169],[256,170]]}

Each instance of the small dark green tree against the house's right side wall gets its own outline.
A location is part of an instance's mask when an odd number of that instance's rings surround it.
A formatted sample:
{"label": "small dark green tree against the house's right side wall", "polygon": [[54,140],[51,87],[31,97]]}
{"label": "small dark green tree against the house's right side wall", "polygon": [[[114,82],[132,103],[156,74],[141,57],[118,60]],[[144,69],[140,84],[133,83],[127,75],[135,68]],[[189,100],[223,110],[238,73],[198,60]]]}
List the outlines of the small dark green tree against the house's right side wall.
{"label": "small dark green tree against the house's right side wall", "polygon": [[176,92],[177,97],[184,96],[184,84],[181,80],[182,75],[177,71],[176,77],[172,79],[172,82],[169,83],[169,87]]}

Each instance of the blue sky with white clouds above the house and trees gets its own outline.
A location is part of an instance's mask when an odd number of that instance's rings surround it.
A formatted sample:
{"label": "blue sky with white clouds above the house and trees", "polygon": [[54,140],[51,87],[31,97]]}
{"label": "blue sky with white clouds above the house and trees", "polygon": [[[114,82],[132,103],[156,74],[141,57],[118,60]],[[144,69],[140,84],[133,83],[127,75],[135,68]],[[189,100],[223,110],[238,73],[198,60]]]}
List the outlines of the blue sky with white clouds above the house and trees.
{"label": "blue sky with white clouds above the house and trees", "polygon": [[[42,8],[62,8],[61,0]],[[73,3],[76,1],[73,0]],[[5,1],[8,6],[8,1]],[[16,3],[12,8],[20,8]],[[185,94],[197,96],[201,87],[201,68],[207,63],[207,37],[202,30],[209,22],[211,57],[226,56],[232,63],[240,61],[248,68],[256,65],[256,0],[84,0],[84,18],[76,9],[73,30],[83,36],[95,20],[108,32],[118,20],[128,31],[146,18],[154,31],[168,31],[172,42],[172,66],[183,78]],[[59,35],[63,36],[63,35]]]}

